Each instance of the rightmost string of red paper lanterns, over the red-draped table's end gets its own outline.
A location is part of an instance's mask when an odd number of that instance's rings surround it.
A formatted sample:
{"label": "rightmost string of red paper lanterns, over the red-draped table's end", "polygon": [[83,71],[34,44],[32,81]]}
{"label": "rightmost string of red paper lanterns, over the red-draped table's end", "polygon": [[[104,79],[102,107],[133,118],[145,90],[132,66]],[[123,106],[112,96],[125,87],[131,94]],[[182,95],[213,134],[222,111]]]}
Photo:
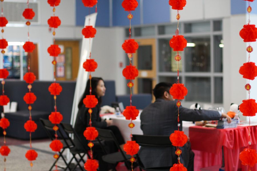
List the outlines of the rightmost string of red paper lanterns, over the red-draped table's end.
{"label": "rightmost string of red paper lanterns, over the red-draped table's end", "polygon": [[250,24],[250,12],[252,11],[252,7],[250,6],[251,2],[254,0],[244,0],[248,1],[248,23],[243,26],[242,30],[240,30],[239,35],[244,42],[248,42],[248,46],[246,51],[248,52],[248,61],[240,67],[239,73],[243,75],[243,78],[247,79],[247,84],[245,85],[246,91],[248,91],[248,99],[243,100],[243,103],[240,104],[239,110],[243,113],[243,116],[249,117],[249,132],[248,132],[248,148],[244,148],[242,152],[239,154],[239,159],[242,161],[242,165],[246,165],[249,168],[253,167],[257,163],[257,153],[256,150],[251,149],[251,133],[250,133],[250,117],[255,116],[257,113],[257,103],[255,99],[250,98],[250,80],[254,80],[257,76],[257,66],[254,62],[250,62],[250,53],[253,51],[251,46],[251,42],[255,42],[257,38],[257,28],[255,25]]}

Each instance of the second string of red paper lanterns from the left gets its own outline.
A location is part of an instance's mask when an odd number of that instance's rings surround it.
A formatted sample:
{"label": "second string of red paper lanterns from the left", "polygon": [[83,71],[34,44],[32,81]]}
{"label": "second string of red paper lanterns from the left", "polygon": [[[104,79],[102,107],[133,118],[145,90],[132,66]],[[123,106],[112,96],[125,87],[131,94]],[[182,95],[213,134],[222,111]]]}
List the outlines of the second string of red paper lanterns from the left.
{"label": "second string of red paper lanterns from the left", "polygon": [[33,11],[33,9],[29,8],[29,0],[27,1],[27,6],[28,8],[26,8],[22,15],[25,19],[27,19],[26,25],[28,26],[28,41],[25,42],[25,44],[23,45],[23,49],[25,50],[25,52],[28,53],[28,72],[23,76],[23,80],[25,80],[25,82],[28,84],[28,90],[29,92],[26,93],[23,97],[23,100],[26,102],[26,104],[28,104],[28,109],[29,109],[29,120],[24,124],[24,128],[27,132],[29,132],[29,145],[30,145],[30,149],[26,152],[25,157],[30,161],[30,166],[33,167],[33,160],[36,160],[37,158],[37,152],[35,150],[32,150],[32,144],[31,144],[31,133],[35,132],[35,130],[37,129],[37,124],[32,120],[32,116],[31,116],[31,104],[33,104],[35,102],[35,100],[37,99],[37,97],[35,96],[34,93],[31,92],[31,88],[33,82],[36,80],[36,76],[34,75],[33,72],[30,72],[30,60],[31,60],[31,52],[33,52],[33,50],[35,49],[35,45],[33,42],[29,41],[29,26],[30,26],[30,21],[32,20],[33,17],[35,16],[35,12]]}

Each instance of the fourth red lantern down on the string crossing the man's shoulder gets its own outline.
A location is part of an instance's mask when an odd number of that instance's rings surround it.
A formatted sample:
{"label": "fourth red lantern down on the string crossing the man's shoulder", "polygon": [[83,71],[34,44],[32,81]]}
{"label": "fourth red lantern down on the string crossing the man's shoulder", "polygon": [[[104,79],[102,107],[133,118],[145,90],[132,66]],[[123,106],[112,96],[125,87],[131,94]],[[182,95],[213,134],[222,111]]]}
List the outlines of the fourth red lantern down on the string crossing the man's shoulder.
{"label": "fourth red lantern down on the string crossing the man's shoulder", "polygon": [[187,136],[184,134],[184,131],[174,131],[170,134],[170,142],[173,146],[184,146],[187,142]]}

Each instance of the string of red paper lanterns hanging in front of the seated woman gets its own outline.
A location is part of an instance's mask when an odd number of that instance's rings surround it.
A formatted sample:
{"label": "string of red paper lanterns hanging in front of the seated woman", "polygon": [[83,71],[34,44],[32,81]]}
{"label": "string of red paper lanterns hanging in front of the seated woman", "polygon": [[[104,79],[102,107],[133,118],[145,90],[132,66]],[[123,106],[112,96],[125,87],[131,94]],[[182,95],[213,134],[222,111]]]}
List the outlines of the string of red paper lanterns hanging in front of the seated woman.
{"label": "string of red paper lanterns hanging in front of the seated woman", "polygon": [[95,37],[95,34],[97,30],[90,25],[90,8],[96,6],[95,11],[97,12],[97,0],[82,0],[85,7],[89,7],[89,23],[85,28],[82,29],[82,34],[85,38],[89,38],[89,59],[87,59],[83,63],[83,68],[86,72],[89,72],[89,81],[90,81],[90,95],[86,95],[86,97],[83,99],[84,105],[89,108],[89,127],[86,128],[83,135],[84,137],[89,141],[87,144],[90,148],[90,159],[87,159],[87,161],[84,164],[84,168],[87,171],[97,171],[97,168],[99,167],[99,164],[97,160],[93,159],[93,151],[92,147],[94,146],[94,143],[92,142],[98,137],[98,131],[95,129],[95,127],[92,127],[91,123],[91,115],[92,115],[92,108],[96,107],[98,104],[98,100],[95,97],[95,95],[92,95],[92,87],[91,87],[91,72],[94,72],[97,68],[97,62],[95,62],[94,59],[91,59],[91,38]]}

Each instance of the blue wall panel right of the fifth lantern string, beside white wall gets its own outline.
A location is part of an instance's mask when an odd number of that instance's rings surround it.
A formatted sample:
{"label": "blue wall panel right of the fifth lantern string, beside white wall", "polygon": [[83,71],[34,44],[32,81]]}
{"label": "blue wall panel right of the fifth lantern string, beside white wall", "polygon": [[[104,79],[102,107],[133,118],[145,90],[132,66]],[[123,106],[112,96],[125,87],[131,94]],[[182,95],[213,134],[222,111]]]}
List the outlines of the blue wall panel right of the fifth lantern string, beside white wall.
{"label": "blue wall panel right of the fifth lantern string, beside white wall", "polygon": [[168,0],[143,0],[143,24],[170,22]]}

